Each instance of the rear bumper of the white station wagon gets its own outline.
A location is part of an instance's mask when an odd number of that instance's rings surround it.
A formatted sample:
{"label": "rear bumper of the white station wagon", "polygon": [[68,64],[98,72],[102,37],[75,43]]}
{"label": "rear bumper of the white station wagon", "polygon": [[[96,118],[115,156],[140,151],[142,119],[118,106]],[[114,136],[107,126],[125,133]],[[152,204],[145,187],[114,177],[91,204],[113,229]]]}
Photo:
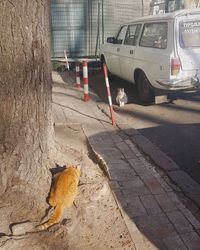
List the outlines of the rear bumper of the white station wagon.
{"label": "rear bumper of the white station wagon", "polygon": [[158,79],[156,82],[168,90],[178,90],[178,89],[199,89],[200,88],[200,75],[189,77],[179,80],[166,80]]}

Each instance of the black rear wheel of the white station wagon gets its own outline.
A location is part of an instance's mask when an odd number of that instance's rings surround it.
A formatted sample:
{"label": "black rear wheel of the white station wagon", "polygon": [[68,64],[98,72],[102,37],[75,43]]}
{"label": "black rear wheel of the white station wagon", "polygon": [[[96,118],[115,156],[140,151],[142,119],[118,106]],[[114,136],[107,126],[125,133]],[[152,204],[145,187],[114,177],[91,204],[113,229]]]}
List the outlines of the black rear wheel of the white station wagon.
{"label": "black rear wheel of the white station wagon", "polygon": [[137,86],[139,98],[142,102],[150,103],[154,100],[154,91],[144,72],[140,73],[137,80]]}

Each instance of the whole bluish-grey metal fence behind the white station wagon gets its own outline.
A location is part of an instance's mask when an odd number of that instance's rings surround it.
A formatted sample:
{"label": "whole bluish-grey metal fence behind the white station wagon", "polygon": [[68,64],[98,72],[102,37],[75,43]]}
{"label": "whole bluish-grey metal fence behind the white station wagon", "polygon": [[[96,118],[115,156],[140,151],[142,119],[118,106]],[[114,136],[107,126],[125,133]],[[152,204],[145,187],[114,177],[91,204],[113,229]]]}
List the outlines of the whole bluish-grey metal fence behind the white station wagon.
{"label": "whole bluish-grey metal fence behind the white station wagon", "polygon": [[149,13],[150,0],[52,0],[52,57],[94,56],[122,22]]}

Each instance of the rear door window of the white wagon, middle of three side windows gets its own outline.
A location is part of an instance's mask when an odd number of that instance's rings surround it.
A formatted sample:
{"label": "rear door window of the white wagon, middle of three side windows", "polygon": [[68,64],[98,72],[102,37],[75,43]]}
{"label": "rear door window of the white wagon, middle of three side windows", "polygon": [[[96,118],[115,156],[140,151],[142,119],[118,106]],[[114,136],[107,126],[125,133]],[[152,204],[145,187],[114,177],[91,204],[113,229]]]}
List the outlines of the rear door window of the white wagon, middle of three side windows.
{"label": "rear door window of the white wagon, middle of three side windows", "polygon": [[141,24],[131,24],[128,26],[124,44],[135,46],[138,40]]}

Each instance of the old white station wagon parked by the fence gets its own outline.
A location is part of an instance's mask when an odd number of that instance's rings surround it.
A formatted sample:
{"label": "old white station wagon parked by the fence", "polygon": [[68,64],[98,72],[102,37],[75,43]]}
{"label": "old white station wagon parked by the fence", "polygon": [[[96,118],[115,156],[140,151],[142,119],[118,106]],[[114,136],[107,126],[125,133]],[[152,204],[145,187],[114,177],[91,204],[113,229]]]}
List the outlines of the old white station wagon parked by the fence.
{"label": "old white station wagon parked by the fence", "polygon": [[159,90],[200,86],[200,8],[135,19],[107,38],[100,58],[109,71],[138,85],[152,101]]}

